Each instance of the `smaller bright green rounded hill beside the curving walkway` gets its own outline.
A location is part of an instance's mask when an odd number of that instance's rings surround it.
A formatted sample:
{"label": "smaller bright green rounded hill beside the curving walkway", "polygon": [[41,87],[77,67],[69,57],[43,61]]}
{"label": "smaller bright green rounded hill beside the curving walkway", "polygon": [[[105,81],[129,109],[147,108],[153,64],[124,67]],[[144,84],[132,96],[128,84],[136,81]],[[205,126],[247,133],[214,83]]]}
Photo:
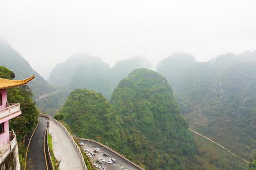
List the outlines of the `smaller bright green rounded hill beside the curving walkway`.
{"label": "smaller bright green rounded hill beside the curving walkway", "polygon": [[122,128],[115,111],[102,96],[87,89],[75,89],[68,96],[57,115],[77,136],[108,143],[110,147],[122,150]]}

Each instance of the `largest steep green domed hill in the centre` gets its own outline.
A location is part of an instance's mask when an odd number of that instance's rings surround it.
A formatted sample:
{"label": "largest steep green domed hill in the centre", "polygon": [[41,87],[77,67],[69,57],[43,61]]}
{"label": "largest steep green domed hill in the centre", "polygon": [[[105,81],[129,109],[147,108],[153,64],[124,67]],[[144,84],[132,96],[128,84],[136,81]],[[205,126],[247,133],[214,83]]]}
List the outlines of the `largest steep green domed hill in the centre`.
{"label": "largest steep green domed hill in the centre", "polygon": [[123,79],[110,102],[135,158],[150,170],[189,169],[195,154],[188,126],[165,77],[146,68]]}

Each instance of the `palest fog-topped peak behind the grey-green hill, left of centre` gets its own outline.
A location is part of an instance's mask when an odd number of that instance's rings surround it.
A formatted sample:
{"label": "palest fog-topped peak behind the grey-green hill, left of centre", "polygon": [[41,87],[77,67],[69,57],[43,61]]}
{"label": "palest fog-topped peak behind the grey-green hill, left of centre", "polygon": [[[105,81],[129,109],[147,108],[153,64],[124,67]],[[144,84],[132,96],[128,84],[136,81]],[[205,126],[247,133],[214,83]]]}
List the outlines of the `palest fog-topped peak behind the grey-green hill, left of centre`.
{"label": "palest fog-topped peak behind the grey-green hill, left of centre", "polygon": [[100,58],[90,56],[86,53],[73,54],[64,63],[58,63],[51,71],[48,82],[53,85],[67,85],[73,78],[73,74],[80,64],[90,66],[96,63],[103,72],[106,72],[110,67]]}

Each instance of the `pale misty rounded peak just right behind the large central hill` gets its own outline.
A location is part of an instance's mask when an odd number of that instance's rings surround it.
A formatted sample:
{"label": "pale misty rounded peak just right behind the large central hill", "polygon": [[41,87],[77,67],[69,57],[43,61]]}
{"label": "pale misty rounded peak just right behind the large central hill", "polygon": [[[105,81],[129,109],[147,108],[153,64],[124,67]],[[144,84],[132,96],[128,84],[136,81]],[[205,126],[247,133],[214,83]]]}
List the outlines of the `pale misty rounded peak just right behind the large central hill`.
{"label": "pale misty rounded peak just right behind the large central hill", "polygon": [[196,62],[193,55],[177,52],[159,62],[156,71],[165,76],[168,83],[175,88],[183,80],[186,70]]}

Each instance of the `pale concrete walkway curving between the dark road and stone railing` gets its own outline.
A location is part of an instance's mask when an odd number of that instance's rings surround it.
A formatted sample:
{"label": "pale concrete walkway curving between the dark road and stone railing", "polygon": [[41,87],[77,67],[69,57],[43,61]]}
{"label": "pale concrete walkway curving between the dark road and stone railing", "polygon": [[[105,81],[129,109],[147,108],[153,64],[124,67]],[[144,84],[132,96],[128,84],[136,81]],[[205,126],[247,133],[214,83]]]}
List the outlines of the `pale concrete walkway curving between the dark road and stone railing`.
{"label": "pale concrete walkway curving between the dark road and stone railing", "polygon": [[60,170],[83,170],[82,161],[64,130],[50,120],[49,133],[55,158],[60,162]]}

